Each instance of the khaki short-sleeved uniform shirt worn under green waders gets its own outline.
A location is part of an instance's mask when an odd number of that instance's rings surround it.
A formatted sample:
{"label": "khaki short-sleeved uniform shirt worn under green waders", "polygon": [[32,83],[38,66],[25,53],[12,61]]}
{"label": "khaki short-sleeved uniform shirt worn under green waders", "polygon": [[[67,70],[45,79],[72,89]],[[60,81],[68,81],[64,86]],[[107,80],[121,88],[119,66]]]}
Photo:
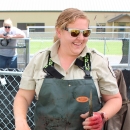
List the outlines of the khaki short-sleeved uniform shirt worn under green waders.
{"label": "khaki short-sleeved uniform shirt worn under green waders", "polygon": [[[73,61],[67,72],[61,67],[60,60],[57,54],[59,45],[60,43],[59,41],[57,41],[50,49],[48,48],[45,50],[41,50],[37,54],[35,54],[35,56],[32,58],[22,74],[20,88],[26,90],[35,90],[36,96],[38,97],[39,91],[46,75],[46,73],[43,71],[43,67],[47,65],[49,51],[51,52],[51,59],[54,62],[55,69],[64,76],[64,80],[84,78],[85,74],[83,70],[74,64],[75,61]],[[87,46],[79,55],[79,58],[84,57],[86,53],[90,53],[90,74],[96,85],[99,97],[101,94],[117,94],[119,92],[117,81],[112,68],[109,66],[107,58],[97,52],[95,49],[90,49]]]}

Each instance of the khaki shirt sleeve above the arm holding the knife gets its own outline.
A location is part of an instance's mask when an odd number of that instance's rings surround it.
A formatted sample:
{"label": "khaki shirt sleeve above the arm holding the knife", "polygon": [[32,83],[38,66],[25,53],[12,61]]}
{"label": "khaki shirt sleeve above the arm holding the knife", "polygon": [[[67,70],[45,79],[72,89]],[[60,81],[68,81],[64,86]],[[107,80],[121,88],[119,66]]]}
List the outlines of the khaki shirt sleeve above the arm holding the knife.
{"label": "khaki shirt sleeve above the arm holding the knife", "polygon": [[107,59],[103,58],[97,74],[99,77],[99,89],[102,94],[113,95],[119,92],[116,76]]}

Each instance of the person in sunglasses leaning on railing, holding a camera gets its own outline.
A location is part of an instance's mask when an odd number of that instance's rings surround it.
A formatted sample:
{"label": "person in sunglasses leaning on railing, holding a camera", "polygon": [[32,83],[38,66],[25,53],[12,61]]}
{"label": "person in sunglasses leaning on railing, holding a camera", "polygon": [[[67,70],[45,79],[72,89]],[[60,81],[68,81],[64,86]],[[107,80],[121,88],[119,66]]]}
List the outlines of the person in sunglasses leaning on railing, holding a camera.
{"label": "person in sunglasses leaning on railing, holding a camera", "polygon": [[[13,27],[11,19],[6,19],[3,23],[3,27],[0,28],[0,47],[15,47],[17,39],[12,38],[24,38],[25,33],[20,29]],[[17,49],[0,49],[0,68],[17,68]]]}

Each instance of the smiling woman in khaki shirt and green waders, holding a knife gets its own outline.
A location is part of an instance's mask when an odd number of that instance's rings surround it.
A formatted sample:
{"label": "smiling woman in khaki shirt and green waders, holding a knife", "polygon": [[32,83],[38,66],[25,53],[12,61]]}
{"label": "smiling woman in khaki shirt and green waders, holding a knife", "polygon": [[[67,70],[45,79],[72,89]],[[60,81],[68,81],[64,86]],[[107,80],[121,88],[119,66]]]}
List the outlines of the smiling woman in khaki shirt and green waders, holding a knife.
{"label": "smiling woman in khaki shirt and green waders, holding a knife", "polygon": [[[26,114],[35,94],[35,130],[101,130],[122,105],[114,72],[102,54],[87,47],[84,12],[64,10],[55,29],[54,45],[38,52],[23,72],[14,100],[15,130],[30,130]],[[90,91],[94,113],[88,117]]]}

